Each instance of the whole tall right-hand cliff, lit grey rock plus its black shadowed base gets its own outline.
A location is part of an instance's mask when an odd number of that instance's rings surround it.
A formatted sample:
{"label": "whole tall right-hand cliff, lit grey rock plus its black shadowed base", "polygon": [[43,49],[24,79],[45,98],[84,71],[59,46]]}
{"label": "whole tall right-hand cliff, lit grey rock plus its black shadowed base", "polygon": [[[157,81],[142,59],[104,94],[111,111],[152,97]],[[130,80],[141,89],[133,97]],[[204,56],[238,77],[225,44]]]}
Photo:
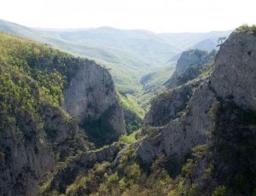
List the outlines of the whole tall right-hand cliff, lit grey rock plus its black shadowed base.
{"label": "whole tall right-hand cliff, lit grey rock plus its black shadowed base", "polygon": [[[248,29],[247,33],[241,33],[244,28]],[[160,128],[155,138],[148,137],[138,147],[137,153],[143,161],[152,162],[162,152],[167,157],[172,156],[172,159],[184,159],[192,147],[202,145],[195,152],[201,151],[201,156],[195,154],[184,165],[186,172],[195,172],[192,176],[187,173],[190,182],[185,184],[195,186],[194,192],[203,191],[206,195],[210,195],[218,185],[220,187],[215,189],[215,193],[252,193],[256,168],[253,164],[256,159],[253,143],[256,104],[253,98],[256,88],[256,54],[253,53],[255,39],[254,32],[249,27],[231,34],[218,52],[208,82],[202,83],[195,90],[183,116],[171,118],[169,123]],[[172,102],[175,104],[175,100]],[[203,146],[205,144],[210,148]],[[239,156],[241,153],[243,157]],[[247,159],[250,159],[251,164],[243,164]],[[234,161],[237,161],[236,164]],[[216,167],[215,170],[209,168],[212,164]],[[206,174],[209,171],[212,173]],[[211,181],[212,184],[207,184]]]}

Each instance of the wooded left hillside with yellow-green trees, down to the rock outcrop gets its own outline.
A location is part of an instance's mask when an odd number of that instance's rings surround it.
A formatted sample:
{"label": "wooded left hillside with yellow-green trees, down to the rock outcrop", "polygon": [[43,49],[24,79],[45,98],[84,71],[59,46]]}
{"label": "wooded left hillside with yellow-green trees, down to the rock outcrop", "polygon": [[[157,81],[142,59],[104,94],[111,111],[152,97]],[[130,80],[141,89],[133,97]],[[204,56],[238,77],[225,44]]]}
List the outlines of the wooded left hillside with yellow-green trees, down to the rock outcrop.
{"label": "wooded left hillside with yellow-green trees, down to the rock outcrop", "polygon": [[[0,131],[15,131],[15,140],[24,138],[28,143],[44,136],[44,130],[47,139],[54,142],[56,130],[48,129],[45,122],[55,113],[55,118],[73,126],[73,119],[61,107],[63,89],[84,61],[0,32]],[[69,149],[65,151],[62,158]]]}

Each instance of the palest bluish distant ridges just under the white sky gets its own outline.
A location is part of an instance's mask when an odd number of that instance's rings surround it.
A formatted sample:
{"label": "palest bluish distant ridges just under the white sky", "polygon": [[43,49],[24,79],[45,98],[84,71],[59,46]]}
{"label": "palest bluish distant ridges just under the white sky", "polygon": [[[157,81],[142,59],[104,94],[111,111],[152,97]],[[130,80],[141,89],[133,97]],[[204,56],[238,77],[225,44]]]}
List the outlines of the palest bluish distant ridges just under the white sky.
{"label": "palest bluish distant ridges just under the white sky", "polygon": [[[148,64],[153,66],[161,66],[155,63],[165,63],[172,56],[186,49],[193,49],[198,43],[206,40],[208,42],[211,40],[211,44],[217,43],[218,37],[228,36],[231,32],[154,33],[146,30],[122,30],[109,26],[81,29],[31,28],[5,20],[0,20],[0,30],[38,39],[40,42],[47,42],[57,47],[59,45],[55,43],[56,41],[79,44],[88,48],[119,49],[137,55],[145,62],[149,60]],[[214,49],[215,45],[212,44],[211,48]],[[77,55],[94,57],[87,51]]]}

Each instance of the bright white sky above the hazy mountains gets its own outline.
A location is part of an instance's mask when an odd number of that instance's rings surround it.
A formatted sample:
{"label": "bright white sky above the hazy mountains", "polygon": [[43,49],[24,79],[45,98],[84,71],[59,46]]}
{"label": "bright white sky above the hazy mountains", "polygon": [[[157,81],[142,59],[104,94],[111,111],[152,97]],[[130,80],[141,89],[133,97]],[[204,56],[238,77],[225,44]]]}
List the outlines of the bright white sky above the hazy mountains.
{"label": "bright white sky above the hazy mountains", "polygon": [[256,0],[0,0],[0,19],[44,28],[210,32],[256,23]]}

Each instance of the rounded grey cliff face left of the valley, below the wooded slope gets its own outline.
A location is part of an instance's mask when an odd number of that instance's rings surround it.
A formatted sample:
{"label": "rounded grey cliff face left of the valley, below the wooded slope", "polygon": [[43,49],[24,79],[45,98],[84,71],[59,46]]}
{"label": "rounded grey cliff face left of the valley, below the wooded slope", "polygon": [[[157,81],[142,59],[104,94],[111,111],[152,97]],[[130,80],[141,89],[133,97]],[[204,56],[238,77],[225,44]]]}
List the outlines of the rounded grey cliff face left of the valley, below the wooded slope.
{"label": "rounded grey cliff face left of the valley, below the wooded slope", "polygon": [[63,107],[80,123],[87,118],[100,118],[109,107],[114,107],[112,117],[109,117],[110,124],[117,134],[125,133],[124,114],[119,107],[113,80],[101,66],[91,62],[80,67],[64,95]]}

